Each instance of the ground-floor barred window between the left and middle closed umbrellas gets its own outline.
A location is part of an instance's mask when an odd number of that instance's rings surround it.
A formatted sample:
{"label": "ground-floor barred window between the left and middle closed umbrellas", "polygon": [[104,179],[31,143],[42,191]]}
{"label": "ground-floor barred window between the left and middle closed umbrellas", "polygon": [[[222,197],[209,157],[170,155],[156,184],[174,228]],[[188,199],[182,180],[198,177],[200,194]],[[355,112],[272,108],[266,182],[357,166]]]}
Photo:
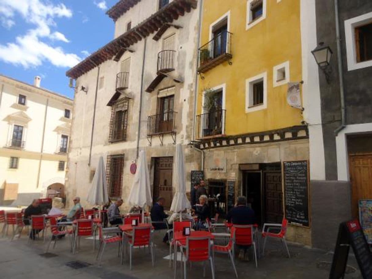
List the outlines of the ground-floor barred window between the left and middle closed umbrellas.
{"label": "ground-floor barred window between the left and middle closed umbrellas", "polygon": [[106,178],[110,198],[121,198],[123,170],[124,154],[107,156]]}

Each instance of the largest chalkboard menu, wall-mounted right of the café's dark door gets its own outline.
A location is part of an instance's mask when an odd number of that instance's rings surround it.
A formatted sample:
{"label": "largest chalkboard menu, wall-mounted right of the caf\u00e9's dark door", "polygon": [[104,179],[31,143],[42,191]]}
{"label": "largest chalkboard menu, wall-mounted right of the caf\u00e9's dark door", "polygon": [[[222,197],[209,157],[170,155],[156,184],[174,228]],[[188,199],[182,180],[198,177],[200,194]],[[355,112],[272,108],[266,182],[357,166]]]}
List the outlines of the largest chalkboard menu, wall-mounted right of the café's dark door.
{"label": "largest chalkboard menu, wall-mounted right of the caf\u00e9's dark door", "polygon": [[307,161],[283,162],[285,217],[291,224],[309,227]]}

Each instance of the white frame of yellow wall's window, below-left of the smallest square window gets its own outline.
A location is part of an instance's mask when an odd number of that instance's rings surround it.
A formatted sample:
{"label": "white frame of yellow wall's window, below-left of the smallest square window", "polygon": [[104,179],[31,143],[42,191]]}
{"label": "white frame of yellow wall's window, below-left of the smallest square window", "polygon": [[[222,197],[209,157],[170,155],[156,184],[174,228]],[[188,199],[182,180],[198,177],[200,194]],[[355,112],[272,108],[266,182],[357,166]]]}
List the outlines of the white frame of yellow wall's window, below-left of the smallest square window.
{"label": "white frame of yellow wall's window, below-left of the smallest square window", "polygon": [[[253,84],[263,81],[263,104],[250,106],[250,100],[253,98]],[[252,96],[252,97],[251,97]],[[251,78],[246,79],[246,113],[264,110],[267,108],[267,72],[263,72]]]}

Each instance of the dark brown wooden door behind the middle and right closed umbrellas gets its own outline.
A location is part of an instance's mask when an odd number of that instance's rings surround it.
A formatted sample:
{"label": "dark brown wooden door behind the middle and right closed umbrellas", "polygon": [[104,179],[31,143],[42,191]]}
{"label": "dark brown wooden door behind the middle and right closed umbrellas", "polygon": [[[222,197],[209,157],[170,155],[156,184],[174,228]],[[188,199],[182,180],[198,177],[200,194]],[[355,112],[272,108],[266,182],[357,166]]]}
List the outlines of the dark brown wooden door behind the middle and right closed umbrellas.
{"label": "dark brown wooden door behind the middle and right closed umbrellas", "polygon": [[169,210],[173,199],[172,188],[173,157],[155,158],[154,202],[158,197],[165,199],[164,210]]}

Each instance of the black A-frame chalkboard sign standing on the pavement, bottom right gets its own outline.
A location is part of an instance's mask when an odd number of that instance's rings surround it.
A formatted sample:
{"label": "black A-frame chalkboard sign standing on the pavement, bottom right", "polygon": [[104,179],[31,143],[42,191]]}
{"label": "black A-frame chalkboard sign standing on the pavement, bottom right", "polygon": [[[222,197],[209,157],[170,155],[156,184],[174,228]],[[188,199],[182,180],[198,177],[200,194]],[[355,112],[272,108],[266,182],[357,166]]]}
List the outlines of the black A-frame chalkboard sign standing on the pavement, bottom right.
{"label": "black A-frame chalkboard sign standing on the pavement, bottom right", "polygon": [[344,278],[350,245],[363,278],[372,278],[372,253],[357,219],[340,224],[329,278]]}

